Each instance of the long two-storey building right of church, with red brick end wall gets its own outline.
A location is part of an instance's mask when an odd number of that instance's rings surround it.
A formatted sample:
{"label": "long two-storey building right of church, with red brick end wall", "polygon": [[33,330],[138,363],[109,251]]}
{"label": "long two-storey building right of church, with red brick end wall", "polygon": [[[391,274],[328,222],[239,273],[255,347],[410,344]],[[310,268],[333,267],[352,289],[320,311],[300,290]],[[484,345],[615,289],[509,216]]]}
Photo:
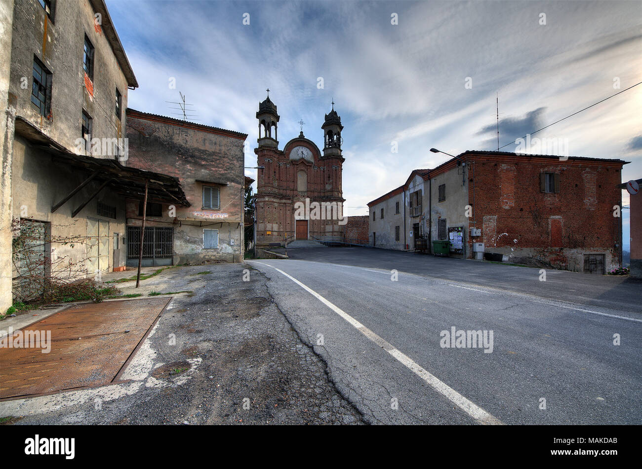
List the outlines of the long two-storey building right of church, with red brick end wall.
{"label": "long two-storey building right of church, with red brick end wall", "polygon": [[[377,233],[379,245],[379,233],[390,232],[391,225],[373,218],[381,217],[382,208],[390,213],[388,200],[397,197],[406,206],[406,222],[395,226],[412,223],[430,241],[449,240],[453,256],[473,258],[473,243],[483,243],[485,252],[511,262],[603,273],[621,263],[621,217],[614,217],[614,207],[621,206],[617,186],[624,164],[467,151],[429,170],[415,199],[402,186],[370,202],[371,236]],[[417,201],[423,208],[417,209]],[[403,249],[403,243],[395,240],[390,247]]]}

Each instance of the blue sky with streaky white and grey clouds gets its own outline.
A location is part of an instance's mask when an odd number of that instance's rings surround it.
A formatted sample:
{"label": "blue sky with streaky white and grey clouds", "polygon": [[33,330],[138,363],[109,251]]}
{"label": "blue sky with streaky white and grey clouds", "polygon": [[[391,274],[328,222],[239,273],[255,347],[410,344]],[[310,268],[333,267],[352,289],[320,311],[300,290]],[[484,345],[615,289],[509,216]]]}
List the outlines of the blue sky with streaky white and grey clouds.
{"label": "blue sky with streaky white and grey clouds", "polygon": [[[321,125],[334,101],[344,126],[346,215],[367,214],[367,202],[402,185],[413,169],[448,159],[431,147],[496,150],[497,97],[499,146],[517,151],[517,138],[642,81],[639,0],[107,6],[140,85],[128,105],[173,116],[178,111],[166,101],[182,92],[194,122],[249,134],[248,167],[257,165],[256,111],[266,88],[281,116],[281,149],[299,135],[301,119],[322,148]],[[630,161],[622,179],[639,179],[641,110],[639,85],[532,137],[558,153]],[[256,179],[255,169],[246,174]],[[623,240],[627,250],[626,209]]]}

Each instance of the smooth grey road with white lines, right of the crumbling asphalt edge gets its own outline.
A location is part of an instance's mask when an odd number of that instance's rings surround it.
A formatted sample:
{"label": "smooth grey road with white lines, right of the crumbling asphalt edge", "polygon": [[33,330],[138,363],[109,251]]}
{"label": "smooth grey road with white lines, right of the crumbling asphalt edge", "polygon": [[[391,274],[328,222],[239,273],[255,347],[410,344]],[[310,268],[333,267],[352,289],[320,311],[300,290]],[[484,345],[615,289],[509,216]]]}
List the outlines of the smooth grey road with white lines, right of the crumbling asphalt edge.
{"label": "smooth grey road with white lines, right of the crumbling asphalt edge", "polygon": [[[288,254],[250,264],[366,421],[642,423],[641,283],[375,249]],[[442,347],[452,327],[492,331],[492,352]]]}

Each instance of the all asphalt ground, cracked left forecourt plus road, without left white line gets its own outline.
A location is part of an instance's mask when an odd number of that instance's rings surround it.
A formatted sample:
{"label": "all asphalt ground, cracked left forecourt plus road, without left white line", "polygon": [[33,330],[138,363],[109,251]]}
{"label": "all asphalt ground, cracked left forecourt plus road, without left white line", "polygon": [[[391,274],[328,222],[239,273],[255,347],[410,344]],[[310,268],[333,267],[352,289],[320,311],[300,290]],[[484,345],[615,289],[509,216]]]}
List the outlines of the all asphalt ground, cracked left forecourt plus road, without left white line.
{"label": "all asphalt ground, cracked left forecourt plus road, without left white line", "polygon": [[[130,381],[0,402],[0,416],[14,424],[479,423],[278,268],[504,424],[641,423],[642,283],[550,270],[540,282],[537,269],[376,249],[288,254],[169,268],[139,290],[118,284],[123,293],[187,291],[173,295],[128,365]],[[492,352],[443,348],[451,327],[492,331]],[[154,377],[163,365],[182,371]]]}

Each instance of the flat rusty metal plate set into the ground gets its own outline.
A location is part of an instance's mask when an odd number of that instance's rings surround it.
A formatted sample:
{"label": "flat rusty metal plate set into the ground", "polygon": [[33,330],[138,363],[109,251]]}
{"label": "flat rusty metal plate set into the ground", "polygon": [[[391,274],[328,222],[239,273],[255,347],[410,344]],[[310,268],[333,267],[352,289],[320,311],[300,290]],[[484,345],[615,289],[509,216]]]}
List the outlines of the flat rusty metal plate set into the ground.
{"label": "flat rusty metal plate set into the ground", "polygon": [[170,300],[78,304],[13,331],[13,338],[50,332],[51,350],[0,347],[0,400],[117,383]]}

